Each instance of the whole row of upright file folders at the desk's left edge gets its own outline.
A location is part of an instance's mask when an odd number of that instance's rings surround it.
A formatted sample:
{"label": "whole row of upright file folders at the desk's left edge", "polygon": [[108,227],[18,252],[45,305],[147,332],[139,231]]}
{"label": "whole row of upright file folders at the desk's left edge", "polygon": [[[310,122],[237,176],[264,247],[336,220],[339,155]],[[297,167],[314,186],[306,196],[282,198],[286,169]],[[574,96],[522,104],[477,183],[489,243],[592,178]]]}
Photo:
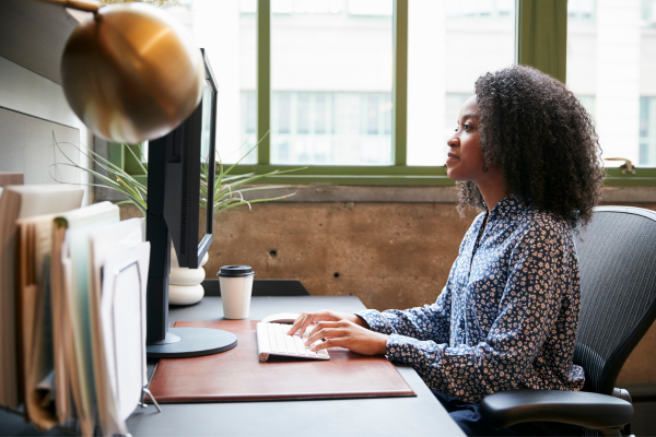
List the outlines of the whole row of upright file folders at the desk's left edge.
{"label": "whole row of upright file folders at the desk's left edge", "polygon": [[145,374],[150,244],[75,187],[0,189],[0,404],[39,429],[128,434]]}

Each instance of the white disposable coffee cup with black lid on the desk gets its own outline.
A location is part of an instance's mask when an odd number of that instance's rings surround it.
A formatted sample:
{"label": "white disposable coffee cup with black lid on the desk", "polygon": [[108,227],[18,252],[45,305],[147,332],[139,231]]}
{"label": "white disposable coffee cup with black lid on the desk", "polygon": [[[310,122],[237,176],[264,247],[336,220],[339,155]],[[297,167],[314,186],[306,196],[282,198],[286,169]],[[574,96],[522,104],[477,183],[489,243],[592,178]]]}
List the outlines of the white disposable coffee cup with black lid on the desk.
{"label": "white disposable coffee cup with black lid on the desk", "polygon": [[223,265],[219,271],[223,317],[247,319],[255,272],[248,265]]}

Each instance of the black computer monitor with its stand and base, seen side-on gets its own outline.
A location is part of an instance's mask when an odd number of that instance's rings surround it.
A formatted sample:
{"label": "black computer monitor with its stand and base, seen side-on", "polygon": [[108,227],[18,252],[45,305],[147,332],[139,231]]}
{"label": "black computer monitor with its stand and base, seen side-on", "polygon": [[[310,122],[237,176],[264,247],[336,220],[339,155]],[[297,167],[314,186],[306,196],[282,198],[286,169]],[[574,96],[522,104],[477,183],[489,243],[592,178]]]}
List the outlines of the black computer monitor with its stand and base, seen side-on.
{"label": "black computer monitor with its stand and base, seen side-on", "polygon": [[[149,144],[145,235],[151,243],[147,292],[149,357],[191,357],[232,349],[237,339],[225,331],[168,328],[171,245],[178,264],[196,269],[212,243],[218,87],[202,50],[206,84],[191,116]],[[206,189],[201,187],[206,185]]]}

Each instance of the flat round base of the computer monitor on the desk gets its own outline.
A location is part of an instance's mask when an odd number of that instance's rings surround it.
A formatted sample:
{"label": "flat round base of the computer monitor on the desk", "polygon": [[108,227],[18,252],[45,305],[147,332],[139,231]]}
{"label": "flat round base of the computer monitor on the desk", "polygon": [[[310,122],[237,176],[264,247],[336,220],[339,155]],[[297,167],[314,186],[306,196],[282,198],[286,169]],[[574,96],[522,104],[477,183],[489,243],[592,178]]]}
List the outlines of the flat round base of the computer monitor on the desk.
{"label": "flat round base of the computer monitor on the desk", "polygon": [[149,358],[191,358],[212,355],[233,349],[237,345],[237,336],[232,332],[209,328],[169,328],[168,333],[179,336],[176,342],[166,340],[145,345]]}

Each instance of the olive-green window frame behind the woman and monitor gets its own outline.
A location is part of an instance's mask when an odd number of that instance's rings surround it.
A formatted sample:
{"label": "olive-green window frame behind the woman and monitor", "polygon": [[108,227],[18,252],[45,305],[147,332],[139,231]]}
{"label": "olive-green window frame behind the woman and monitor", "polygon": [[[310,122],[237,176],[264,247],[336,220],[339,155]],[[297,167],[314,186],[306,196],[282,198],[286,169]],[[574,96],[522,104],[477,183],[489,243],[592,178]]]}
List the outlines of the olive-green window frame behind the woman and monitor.
{"label": "olive-green window frame behind the woman and monitor", "polygon": [[[340,186],[453,186],[445,166],[407,165],[408,115],[408,8],[409,0],[394,0],[394,78],[391,165],[318,166],[259,180],[277,185]],[[261,139],[256,165],[238,165],[232,173],[266,174],[296,165],[271,165],[271,0],[257,0],[257,138]],[[515,62],[532,66],[561,82],[566,80],[567,0],[515,0]],[[133,156],[110,145],[109,160],[139,176]],[[607,186],[656,186],[656,168],[640,167],[635,174],[607,168]],[[139,178],[145,179],[140,175]]]}

